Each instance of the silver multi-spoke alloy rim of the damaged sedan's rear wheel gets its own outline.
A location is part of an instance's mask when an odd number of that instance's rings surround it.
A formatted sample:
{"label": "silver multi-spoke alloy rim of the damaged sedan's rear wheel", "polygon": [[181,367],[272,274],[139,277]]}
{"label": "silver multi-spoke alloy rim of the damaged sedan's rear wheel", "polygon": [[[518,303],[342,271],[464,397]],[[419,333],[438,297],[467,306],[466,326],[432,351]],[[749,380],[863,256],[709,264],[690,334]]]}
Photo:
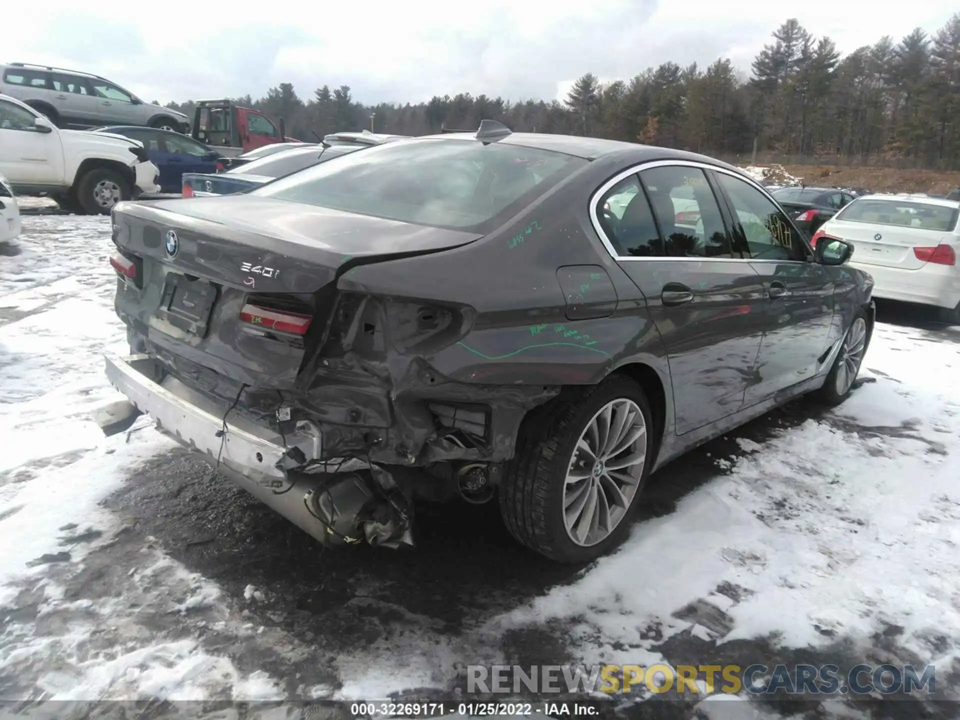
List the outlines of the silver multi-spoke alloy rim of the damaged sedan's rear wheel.
{"label": "silver multi-spoke alloy rim of the damaged sedan's rear wheel", "polygon": [[607,538],[627,515],[646,464],[647,424],[639,406],[621,397],[587,423],[564,481],[564,527],[578,545]]}

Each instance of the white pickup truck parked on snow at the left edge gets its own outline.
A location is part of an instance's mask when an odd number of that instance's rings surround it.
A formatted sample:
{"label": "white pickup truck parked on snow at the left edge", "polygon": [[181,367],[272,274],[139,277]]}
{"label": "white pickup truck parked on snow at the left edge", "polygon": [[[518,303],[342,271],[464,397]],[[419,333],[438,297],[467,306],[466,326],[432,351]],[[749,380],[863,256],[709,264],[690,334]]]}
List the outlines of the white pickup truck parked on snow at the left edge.
{"label": "white pickup truck parked on snow at the left edge", "polygon": [[104,132],[59,130],[34,108],[0,95],[0,174],[17,195],[49,195],[89,215],[159,192],[143,145]]}

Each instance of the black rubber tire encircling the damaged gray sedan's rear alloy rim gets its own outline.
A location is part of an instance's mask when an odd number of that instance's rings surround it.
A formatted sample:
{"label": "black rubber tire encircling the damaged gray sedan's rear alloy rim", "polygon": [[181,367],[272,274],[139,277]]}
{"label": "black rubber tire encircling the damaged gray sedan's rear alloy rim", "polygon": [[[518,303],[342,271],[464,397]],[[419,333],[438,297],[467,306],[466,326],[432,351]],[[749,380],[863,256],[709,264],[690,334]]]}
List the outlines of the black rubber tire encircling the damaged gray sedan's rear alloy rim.
{"label": "black rubber tire encircling the damaged gray sedan's rear alloy rim", "polygon": [[[626,513],[610,534],[584,546],[570,539],[564,526],[564,483],[574,447],[588,423],[607,403],[633,400],[646,423],[646,460]],[[499,489],[500,514],[510,533],[531,550],[553,561],[584,564],[609,552],[627,536],[638,498],[653,462],[653,416],[643,390],[629,377],[614,375],[599,385],[567,389],[530,413],[520,426],[516,453]]]}

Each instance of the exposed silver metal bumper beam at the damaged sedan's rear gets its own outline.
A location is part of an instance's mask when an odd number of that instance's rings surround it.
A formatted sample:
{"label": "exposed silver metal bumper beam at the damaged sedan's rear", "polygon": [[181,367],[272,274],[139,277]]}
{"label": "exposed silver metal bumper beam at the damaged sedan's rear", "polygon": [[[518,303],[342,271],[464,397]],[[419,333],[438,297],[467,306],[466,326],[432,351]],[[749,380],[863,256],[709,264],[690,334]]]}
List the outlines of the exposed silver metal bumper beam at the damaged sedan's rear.
{"label": "exposed silver metal bumper beam at the damaged sedan's rear", "polygon": [[296,445],[310,460],[321,451],[319,432],[303,427],[287,443],[270,428],[250,420],[227,417],[228,407],[199,396],[176,378],[155,382],[156,362],[149,355],[119,357],[108,354],[107,377],[110,384],[123,393],[138,410],[150,415],[157,424],[176,436],[177,440],[260,486],[276,481],[286,482],[286,469],[292,462],[289,453]]}

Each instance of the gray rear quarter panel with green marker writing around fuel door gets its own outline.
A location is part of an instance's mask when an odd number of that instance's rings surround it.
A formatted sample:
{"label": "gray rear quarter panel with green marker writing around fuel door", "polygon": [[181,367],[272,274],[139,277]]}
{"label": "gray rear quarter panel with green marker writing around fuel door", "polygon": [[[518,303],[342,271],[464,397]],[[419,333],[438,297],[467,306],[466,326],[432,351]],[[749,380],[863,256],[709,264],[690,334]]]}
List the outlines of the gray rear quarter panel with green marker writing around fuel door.
{"label": "gray rear quarter panel with green marker writing around fuel door", "polygon": [[[425,358],[451,379],[495,385],[588,385],[629,363],[660,376],[669,397],[660,335],[646,300],[591,227],[592,192],[622,167],[615,156],[589,163],[501,228],[462,248],[359,266],[341,290],[468,304],[475,322],[460,342]],[[583,296],[615,294],[609,317],[571,320],[558,281],[564,266],[595,268]],[[603,274],[610,281],[603,279]],[[579,281],[579,280],[578,280]],[[604,300],[607,296],[604,295]],[[602,304],[602,303],[601,303]],[[670,417],[670,416],[668,416]]]}

